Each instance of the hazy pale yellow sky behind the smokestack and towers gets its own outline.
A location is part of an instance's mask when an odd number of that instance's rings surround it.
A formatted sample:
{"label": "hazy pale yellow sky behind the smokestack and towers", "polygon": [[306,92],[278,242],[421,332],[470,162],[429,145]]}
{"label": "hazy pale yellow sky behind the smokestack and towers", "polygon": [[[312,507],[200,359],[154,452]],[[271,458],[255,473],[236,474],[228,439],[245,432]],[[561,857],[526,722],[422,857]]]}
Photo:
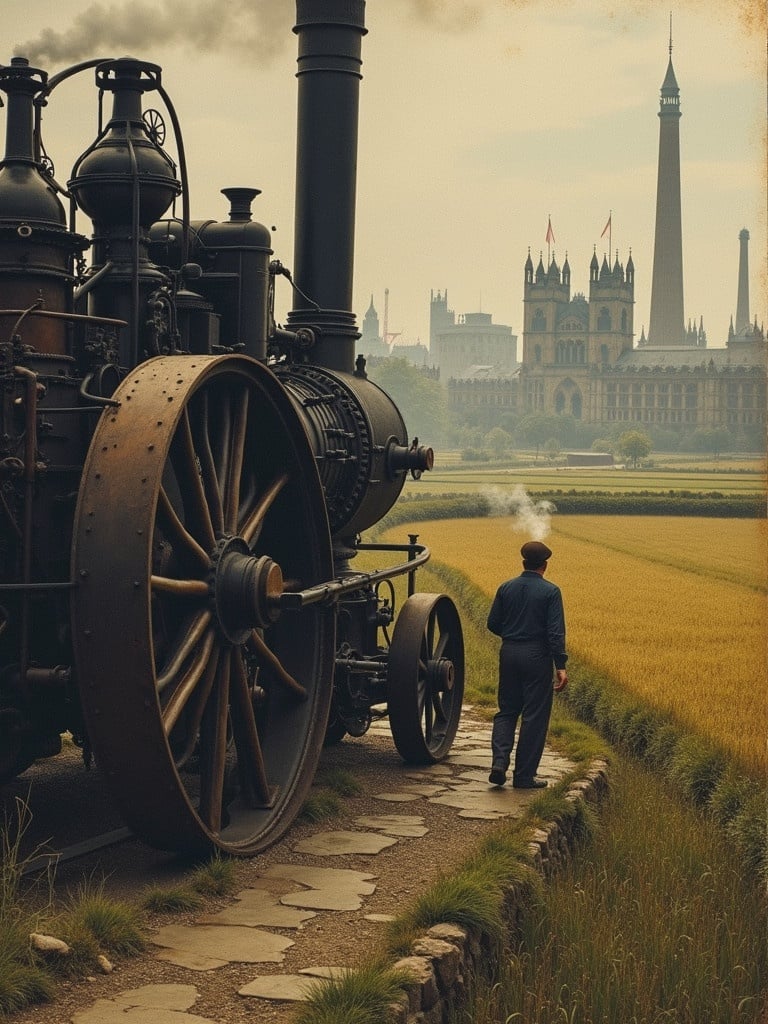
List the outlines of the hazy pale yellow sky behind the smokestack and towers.
{"label": "hazy pale yellow sky behind the smokestack and towers", "polygon": [[[219,189],[253,185],[254,215],[293,262],[293,0],[5,0],[8,52],[50,73],[131,53],[162,65],[184,133],[194,219],[226,219]],[[429,337],[430,289],[521,335],[523,264],[567,252],[587,292],[612,211],[635,262],[646,332],[658,95],[680,86],[685,316],[711,347],[735,313],[738,232],[751,232],[751,312],[766,312],[763,0],[368,0],[362,42],[355,311],[371,295],[402,340]],[[44,139],[66,181],[96,126],[92,72],[57,89]],[[152,100],[151,105],[157,105]],[[279,313],[291,305],[279,285]]]}

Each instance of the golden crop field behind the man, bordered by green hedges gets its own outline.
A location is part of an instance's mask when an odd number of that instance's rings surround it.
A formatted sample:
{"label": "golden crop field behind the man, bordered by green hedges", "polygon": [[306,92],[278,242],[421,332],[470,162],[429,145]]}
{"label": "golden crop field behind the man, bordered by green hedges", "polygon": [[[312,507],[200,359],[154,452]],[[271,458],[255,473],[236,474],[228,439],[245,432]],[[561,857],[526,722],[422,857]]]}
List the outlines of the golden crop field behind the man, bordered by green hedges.
{"label": "golden crop field behind the man, bordered by green hedges", "polygon": [[[483,589],[488,601],[504,579],[520,571],[519,548],[529,540],[510,518],[420,522],[398,532],[411,529],[435,558]],[[765,595],[754,582],[726,582],[668,563],[684,546],[685,558],[701,569],[738,563],[748,572],[749,552],[764,585],[764,525],[555,516],[547,543],[553,550],[548,577],[563,593],[571,653],[710,736],[750,770],[764,769]],[[622,546],[627,550],[614,550]]]}

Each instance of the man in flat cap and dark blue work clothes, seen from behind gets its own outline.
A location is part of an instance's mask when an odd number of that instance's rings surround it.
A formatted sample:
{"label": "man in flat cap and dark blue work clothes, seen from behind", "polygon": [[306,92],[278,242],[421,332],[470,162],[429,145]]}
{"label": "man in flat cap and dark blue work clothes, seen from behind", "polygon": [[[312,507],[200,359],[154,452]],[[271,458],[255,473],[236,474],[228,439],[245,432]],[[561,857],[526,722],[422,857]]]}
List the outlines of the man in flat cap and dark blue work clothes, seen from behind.
{"label": "man in flat cap and dark blue work clothes, seen from behind", "polygon": [[520,554],[523,571],[501,585],[487,622],[490,632],[502,638],[499,713],[490,737],[494,760],[488,781],[494,785],[507,781],[520,718],[512,784],[516,790],[542,790],[547,783],[536,773],[544,753],[552,694],[568,683],[565,616],[560,588],[544,579],[550,549],[541,541],[528,541]]}

